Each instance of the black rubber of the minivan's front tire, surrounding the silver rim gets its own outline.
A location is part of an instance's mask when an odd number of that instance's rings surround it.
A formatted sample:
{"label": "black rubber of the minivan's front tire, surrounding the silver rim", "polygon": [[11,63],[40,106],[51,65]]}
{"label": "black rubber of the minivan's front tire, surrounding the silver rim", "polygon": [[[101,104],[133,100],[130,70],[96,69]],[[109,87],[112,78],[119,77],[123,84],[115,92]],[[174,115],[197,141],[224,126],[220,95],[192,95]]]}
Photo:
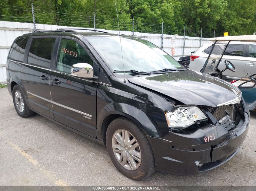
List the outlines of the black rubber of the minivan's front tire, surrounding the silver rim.
{"label": "black rubber of the minivan's front tire, surrounding the silver rim", "polygon": [[[135,137],[135,139],[137,140],[140,146],[141,164],[136,170],[125,169],[115,158],[115,155],[112,149],[112,136],[115,133],[115,131],[118,129],[125,129],[129,131]],[[140,179],[143,179],[144,177],[147,177],[147,173],[150,169],[150,164],[151,164],[148,145],[145,142],[144,138],[141,136],[141,132],[142,131],[138,130],[138,127],[134,123],[124,119],[117,119],[117,120],[114,120],[109,125],[106,133],[106,145],[107,145],[107,150],[111,158],[111,161],[122,174],[124,174],[128,178],[135,179],[135,180],[140,180]]]}

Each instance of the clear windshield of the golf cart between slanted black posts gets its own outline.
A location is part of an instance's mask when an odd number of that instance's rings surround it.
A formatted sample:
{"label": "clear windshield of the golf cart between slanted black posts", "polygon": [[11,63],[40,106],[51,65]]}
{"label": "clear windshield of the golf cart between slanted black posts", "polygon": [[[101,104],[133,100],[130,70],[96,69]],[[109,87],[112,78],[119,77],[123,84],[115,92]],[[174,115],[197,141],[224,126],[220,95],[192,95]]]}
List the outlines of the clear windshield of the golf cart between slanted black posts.
{"label": "clear windshield of the golf cart between slanted black posts", "polygon": [[[203,73],[215,72],[215,70],[217,68],[217,64],[218,64],[219,60],[221,59],[221,55],[222,55],[226,45],[227,45],[227,43],[225,43],[225,42],[221,42],[221,43],[217,42],[215,44]],[[212,46],[210,46],[210,47],[212,47]]]}

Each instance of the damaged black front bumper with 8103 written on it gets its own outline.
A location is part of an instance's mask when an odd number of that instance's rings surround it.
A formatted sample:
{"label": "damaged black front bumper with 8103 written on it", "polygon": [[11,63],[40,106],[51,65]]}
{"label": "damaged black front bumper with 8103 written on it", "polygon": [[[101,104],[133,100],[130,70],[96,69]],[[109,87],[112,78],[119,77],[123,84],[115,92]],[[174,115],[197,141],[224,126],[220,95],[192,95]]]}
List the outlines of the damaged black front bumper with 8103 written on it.
{"label": "damaged black front bumper with 8103 written on it", "polygon": [[219,124],[209,124],[191,134],[169,131],[163,138],[147,136],[156,169],[179,175],[212,170],[238,153],[247,135],[248,124],[249,112],[245,109],[244,118],[232,132]]}

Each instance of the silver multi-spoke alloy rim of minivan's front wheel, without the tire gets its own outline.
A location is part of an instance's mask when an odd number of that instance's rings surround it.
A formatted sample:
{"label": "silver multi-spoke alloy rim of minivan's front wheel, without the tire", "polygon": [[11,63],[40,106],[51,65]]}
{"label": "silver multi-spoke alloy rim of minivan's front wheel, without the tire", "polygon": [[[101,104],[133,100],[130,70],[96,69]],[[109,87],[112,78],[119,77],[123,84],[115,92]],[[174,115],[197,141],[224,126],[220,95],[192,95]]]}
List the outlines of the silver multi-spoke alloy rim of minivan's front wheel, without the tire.
{"label": "silver multi-spoke alloy rim of minivan's front wheel, without the tire", "polygon": [[127,170],[141,164],[141,150],[136,138],[125,129],[118,129],[112,137],[112,148],[117,161]]}

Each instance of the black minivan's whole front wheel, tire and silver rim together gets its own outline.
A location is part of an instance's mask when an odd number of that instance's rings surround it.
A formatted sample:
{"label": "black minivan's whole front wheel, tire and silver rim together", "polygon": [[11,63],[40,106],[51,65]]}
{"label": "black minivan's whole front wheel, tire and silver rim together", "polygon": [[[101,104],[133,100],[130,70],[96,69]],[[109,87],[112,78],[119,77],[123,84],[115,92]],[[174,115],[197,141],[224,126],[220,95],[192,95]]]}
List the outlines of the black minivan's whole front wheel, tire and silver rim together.
{"label": "black minivan's whole front wheel, tire and silver rim together", "polygon": [[119,117],[106,132],[108,154],[126,177],[141,180],[155,171],[155,159],[144,132],[131,120]]}

